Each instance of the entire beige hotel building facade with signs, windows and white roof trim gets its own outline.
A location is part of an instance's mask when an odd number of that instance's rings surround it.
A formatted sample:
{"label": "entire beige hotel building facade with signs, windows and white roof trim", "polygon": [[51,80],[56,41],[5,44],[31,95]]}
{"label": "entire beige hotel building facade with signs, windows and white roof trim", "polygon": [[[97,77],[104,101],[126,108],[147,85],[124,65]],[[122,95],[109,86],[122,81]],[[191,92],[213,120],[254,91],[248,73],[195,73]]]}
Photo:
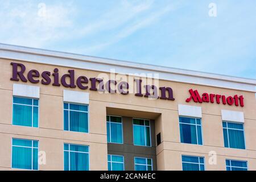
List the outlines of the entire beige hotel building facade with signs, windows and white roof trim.
{"label": "entire beige hotel building facade with signs, windows and white roof trim", "polygon": [[1,170],[256,170],[256,80],[7,44],[0,61]]}

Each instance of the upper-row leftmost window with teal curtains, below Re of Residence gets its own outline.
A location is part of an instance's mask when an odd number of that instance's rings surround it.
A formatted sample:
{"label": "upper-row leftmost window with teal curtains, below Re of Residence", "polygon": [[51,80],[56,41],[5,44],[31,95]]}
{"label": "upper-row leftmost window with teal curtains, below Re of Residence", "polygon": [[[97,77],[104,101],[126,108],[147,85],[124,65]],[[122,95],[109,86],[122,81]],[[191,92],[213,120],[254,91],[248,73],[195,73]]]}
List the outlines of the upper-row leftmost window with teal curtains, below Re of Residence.
{"label": "upper-row leftmost window with teal curtains, below Re of Residence", "polygon": [[38,100],[13,97],[13,125],[38,127]]}

